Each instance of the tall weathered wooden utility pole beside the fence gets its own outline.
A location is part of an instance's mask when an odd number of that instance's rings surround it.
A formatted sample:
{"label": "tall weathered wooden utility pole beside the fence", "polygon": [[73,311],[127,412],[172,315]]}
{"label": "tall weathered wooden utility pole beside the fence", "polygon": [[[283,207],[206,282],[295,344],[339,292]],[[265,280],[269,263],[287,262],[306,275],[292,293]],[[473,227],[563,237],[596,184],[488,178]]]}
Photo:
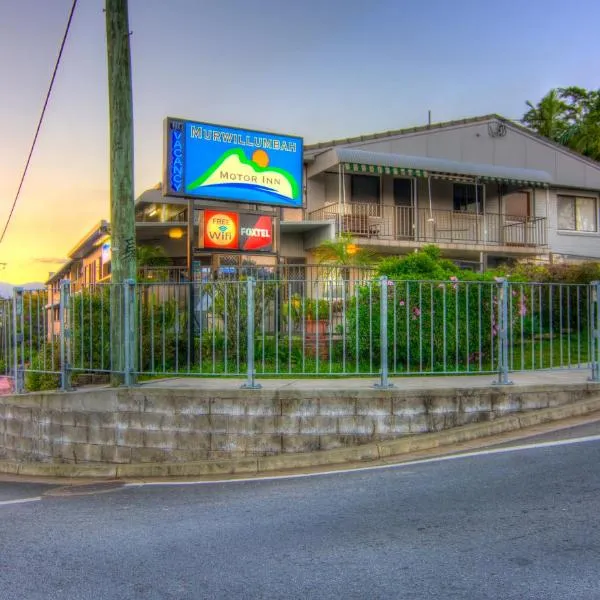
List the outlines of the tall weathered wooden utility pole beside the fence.
{"label": "tall weathered wooden utility pole beside the fence", "polygon": [[[111,383],[120,385],[126,369],[126,319],[123,284],[136,278],[135,210],[133,198],[133,102],[127,0],[106,0],[108,101],[110,119],[111,224]],[[133,317],[132,317],[133,318]],[[130,348],[135,348],[131,343]],[[130,365],[132,362],[129,353]],[[116,374],[115,374],[116,372]]]}

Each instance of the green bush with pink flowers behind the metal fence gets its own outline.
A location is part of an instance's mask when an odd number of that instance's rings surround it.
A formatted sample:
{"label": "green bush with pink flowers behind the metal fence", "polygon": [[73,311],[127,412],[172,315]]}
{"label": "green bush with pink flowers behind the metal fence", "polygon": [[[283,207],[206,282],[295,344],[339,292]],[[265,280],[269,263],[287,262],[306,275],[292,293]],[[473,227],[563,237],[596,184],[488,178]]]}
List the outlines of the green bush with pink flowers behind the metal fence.
{"label": "green bush with pink flowers behind the metal fence", "polygon": [[[390,282],[386,291],[390,369],[452,370],[491,358],[497,286],[405,281]],[[338,332],[345,327],[349,360],[380,364],[380,302],[379,282],[373,282],[348,303]]]}

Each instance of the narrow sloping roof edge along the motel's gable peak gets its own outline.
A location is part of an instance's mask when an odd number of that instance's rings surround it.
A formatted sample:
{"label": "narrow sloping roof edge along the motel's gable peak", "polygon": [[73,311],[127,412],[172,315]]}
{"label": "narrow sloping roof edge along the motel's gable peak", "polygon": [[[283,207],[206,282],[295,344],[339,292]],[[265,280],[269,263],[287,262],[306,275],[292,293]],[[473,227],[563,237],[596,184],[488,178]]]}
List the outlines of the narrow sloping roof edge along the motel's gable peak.
{"label": "narrow sloping roof edge along the motel's gable peak", "polygon": [[540,135],[539,133],[536,133],[535,131],[533,131],[533,129],[529,129],[529,127],[525,127],[521,123],[512,121],[512,120],[507,119],[506,117],[503,117],[496,113],[481,115],[479,117],[468,117],[466,119],[455,119],[453,121],[442,121],[440,123],[432,123],[431,125],[419,125],[416,127],[406,127],[404,129],[392,129],[389,131],[382,131],[379,133],[370,133],[370,134],[359,135],[359,136],[350,137],[350,138],[340,138],[340,139],[336,139],[336,140],[330,140],[328,142],[318,142],[315,144],[306,144],[304,146],[304,151],[308,152],[310,155],[314,156],[315,154],[319,153],[319,150],[321,150],[321,151],[327,150],[328,148],[332,148],[334,146],[358,144],[360,142],[369,142],[369,141],[373,141],[373,140],[380,140],[380,139],[385,139],[385,138],[390,138],[390,137],[395,137],[395,136],[409,135],[412,133],[426,133],[428,131],[436,131],[439,129],[449,129],[451,127],[472,125],[474,123],[485,123],[486,121],[500,121],[501,123],[504,123],[508,127],[512,127],[513,129],[516,129],[516,130],[520,131],[521,133],[528,135],[531,138],[537,139],[538,141],[543,142],[544,144],[552,146],[553,148],[556,148],[557,150],[561,150],[565,154],[574,156],[574,157],[578,158],[579,160],[586,162],[586,163],[596,167],[597,169],[600,169],[600,163],[598,161],[595,161],[587,156],[584,156],[583,154],[580,154],[579,152],[576,152],[575,150],[571,150],[570,148],[567,148],[566,146],[563,146],[562,144],[559,144],[547,137],[544,137],[543,135]]}

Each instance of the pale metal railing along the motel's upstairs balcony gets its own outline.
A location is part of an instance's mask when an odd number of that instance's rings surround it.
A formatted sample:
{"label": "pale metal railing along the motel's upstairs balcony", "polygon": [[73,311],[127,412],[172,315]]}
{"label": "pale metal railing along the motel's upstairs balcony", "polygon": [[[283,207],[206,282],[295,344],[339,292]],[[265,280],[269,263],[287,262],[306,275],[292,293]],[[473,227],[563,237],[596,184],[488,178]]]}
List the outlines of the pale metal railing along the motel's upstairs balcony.
{"label": "pale metal railing along the motel's upstairs balcony", "polygon": [[547,243],[545,217],[333,203],[311,212],[309,220],[333,220],[338,231],[381,240],[521,247]]}

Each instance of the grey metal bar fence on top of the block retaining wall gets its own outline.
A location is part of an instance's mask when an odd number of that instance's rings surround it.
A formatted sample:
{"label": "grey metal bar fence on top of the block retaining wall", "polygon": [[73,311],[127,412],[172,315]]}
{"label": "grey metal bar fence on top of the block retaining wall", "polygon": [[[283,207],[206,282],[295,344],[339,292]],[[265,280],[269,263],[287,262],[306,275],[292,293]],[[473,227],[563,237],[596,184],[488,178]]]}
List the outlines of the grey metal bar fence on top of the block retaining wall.
{"label": "grey metal bar fence on top of the block retaining wall", "polygon": [[[16,391],[120,376],[389,377],[591,369],[600,284],[387,278],[99,284],[0,304]],[[115,337],[116,336],[116,337]],[[115,342],[119,343],[115,343]],[[116,348],[116,351],[115,351]]]}

